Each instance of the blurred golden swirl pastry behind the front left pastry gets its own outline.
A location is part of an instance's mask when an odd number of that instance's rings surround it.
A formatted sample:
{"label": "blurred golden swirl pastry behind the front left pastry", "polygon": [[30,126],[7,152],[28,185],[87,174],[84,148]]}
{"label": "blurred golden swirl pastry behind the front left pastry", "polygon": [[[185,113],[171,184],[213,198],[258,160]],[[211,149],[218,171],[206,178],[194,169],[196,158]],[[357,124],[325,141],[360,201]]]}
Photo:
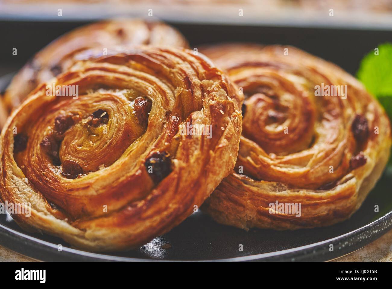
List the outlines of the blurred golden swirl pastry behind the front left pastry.
{"label": "blurred golden swirl pastry behind the front left pastry", "polygon": [[[122,45],[188,47],[185,38],[173,27],[140,19],[107,20],[77,28],[39,51],[13,78],[4,95],[8,109],[17,107],[42,82],[66,71],[75,55],[87,49]],[[109,52],[110,53],[110,52]]]}

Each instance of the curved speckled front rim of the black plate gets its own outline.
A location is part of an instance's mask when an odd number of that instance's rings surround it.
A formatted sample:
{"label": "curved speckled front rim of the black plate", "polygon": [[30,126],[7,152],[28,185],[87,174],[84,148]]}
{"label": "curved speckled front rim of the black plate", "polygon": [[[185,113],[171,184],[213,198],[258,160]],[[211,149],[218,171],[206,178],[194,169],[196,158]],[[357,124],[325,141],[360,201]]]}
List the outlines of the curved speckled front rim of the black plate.
{"label": "curved speckled front rim of the black plate", "polygon": [[[355,229],[354,231],[350,231],[348,233],[336,236],[334,238],[330,238],[328,240],[316,242],[313,244],[309,245],[304,245],[300,247],[295,247],[295,248],[290,248],[290,249],[285,249],[281,251],[274,251],[274,252],[269,252],[269,253],[261,253],[261,254],[254,254],[254,255],[249,255],[249,256],[240,256],[240,257],[232,257],[232,258],[223,258],[223,259],[209,259],[209,260],[160,260],[160,259],[148,259],[148,258],[134,258],[134,257],[123,257],[123,256],[114,256],[114,255],[108,255],[105,253],[94,253],[94,252],[88,252],[88,251],[83,251],[79,249],[73,249],[71,247],[66,247],[62,246],[62,252],[58,251],[58,247],[51,242],[41,240],[40,238],[30,236],[28,234],[16,231],[15,229],[9,228],[6,225],[0,223],[0,244],[4,245],[5,247],[23,254],[25,256],[28,256],[30,258],[34,258],[36,260],[55,260],[53,258],[37,258],[37,256],[42,256],[42,254],[49,252],[49,253],[56,253],[53,254],[52,257],[59,257],[58,260],[56,261],[67,261],[67,260],[77,260],[77,259],[82,259],[79,261],[116,261],[116,262],[240,262],[240,261],[320,261],[320,254],[324,256],[324,253],[329,252],[329,245],[334,244],[338,245],[341,242],[347,241],[349,238],[353,237],[358,237],[361,233],[367,233],[368,231],[371,231],[374,229],[374,227],[380,226],[382,224],[385,224],[388,220],[390,220],[390,223],[383,227],[380,228],[379,230],[376,230],[376,233],[373,233],[370,235],[369,238],[365,238],[365,240],[362,240],[361,242],[354,243],[352,245],[349,245],[347,248],[348,249],[340,249],[338,251],[334,251],[332,254],[333,256],[329,256],[328,258],[321,258],[323,259],[322,261],[329,261],[329,260],[334,260],[335,258],[339,258],[341,256],[344,256],[345,254],[350,254],[365,245],[373,242],[374,240],[378,239],[381,237],[383,234],[387,233],[391,227],[392,227],[392,211],[388,212],[387,214],[381,216],[377,220],[374,220],[373,222],[364,225],[362,227],[359,227],[358,229]],[[7,242],[8,241],[8,242]],[[11,242],[13,242],[13,245],[10,246]],[[30,245],[29,249],[33,249],[35,247],[36,249],[39,250],[38,254],[29,254],[25,253],[26,251],[23,250],[22,245]],[[327,245],[327,246],[325,246]],[[11,248],[10,248],[11,247]],[[319,251],[320,254],[312,254],[309,255],[310,252],[314,252],[315,250]],[[338,252],[337,254],[335,252]],[[62,254],[64,255],[66,253],[66,256],[61,256]],[[316,253],[316,252],[314,252]],[[302,255],[302,256],[301,256]],[[65,258],[64,258],[65,257]],[[310,257],[310,260],[308,260]],[[84,259],[84,260],[83,260]]]}

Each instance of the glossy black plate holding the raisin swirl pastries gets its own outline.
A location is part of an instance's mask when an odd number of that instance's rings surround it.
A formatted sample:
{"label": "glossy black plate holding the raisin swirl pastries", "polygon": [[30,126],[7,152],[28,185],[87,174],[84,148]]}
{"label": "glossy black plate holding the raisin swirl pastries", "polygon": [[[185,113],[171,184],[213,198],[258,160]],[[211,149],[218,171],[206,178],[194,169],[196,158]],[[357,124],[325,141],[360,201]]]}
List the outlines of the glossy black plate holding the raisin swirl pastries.
{"label": "glossy black plate holding the raisin swirl pastries", "polygon": [[[0,91],[9,81],[10,75],[0,78]],[[0,214],[0,244],[45,261],[327,261],[360,249],[392,227],[391,177],[392,169],[385,171],[361,208],[349,220],[330,227],[246,232],[217,224],[199,211],[136,250],[96,254],[72,249],[60,238],[26,233],[9,214]],[[375,205],[379,206],[379,212],[374,211]],[[58,244],[62,244],[62,251],[58,250]],[[239,251],[240,244],[243,251]]]}

